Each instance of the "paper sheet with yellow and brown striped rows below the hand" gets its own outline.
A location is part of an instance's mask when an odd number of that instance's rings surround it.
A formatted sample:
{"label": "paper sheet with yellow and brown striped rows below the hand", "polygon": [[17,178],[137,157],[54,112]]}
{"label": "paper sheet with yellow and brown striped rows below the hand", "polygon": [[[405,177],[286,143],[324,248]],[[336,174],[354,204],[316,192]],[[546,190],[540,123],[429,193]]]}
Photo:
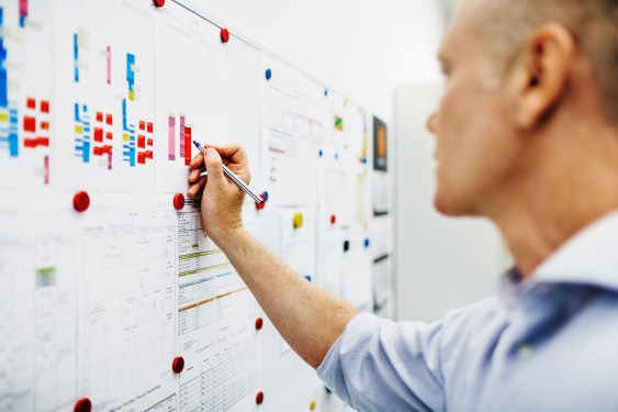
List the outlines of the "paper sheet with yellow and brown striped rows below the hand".
{"label": "paper sheet with yellow and brown striped rows below the hand", "polygon": [[180,410],[247,410],[255,402],[259,377],[257,303],[225,255],[204,235],[200,200],[189,200],[178,221],[176,352],[186,361]]}

